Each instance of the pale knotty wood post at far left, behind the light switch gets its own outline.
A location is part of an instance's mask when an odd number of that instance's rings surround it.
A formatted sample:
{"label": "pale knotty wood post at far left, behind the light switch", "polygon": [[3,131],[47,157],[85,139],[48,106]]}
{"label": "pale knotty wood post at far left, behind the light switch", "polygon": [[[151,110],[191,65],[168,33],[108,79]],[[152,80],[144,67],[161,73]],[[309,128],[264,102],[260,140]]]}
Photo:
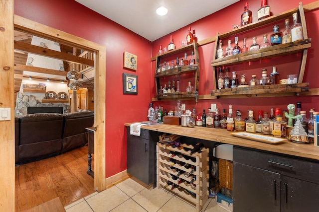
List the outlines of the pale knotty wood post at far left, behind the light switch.
{"label": "pale knotty wood post at far left, behind the light switch", "polygon": [[13,0],[0,1],[0,106],[10,108],[10,121],[0,128],[0,211],[15,211]]}

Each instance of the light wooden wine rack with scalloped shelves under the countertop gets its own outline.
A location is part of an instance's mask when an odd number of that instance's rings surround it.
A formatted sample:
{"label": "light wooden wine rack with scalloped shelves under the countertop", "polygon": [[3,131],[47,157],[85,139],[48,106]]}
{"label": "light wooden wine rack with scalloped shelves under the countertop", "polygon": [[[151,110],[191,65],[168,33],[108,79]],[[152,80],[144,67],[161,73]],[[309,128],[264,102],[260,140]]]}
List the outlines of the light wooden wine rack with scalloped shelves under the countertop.
{"label": "light wooden wine rack with scalloped shelves under the countertop", "polygon": [[177,194],[199,212],[209,194],[209,149],[202,148],[201,152],[190,155],[194,146],[181,146],[182,149],[157,144],[157,187]]}

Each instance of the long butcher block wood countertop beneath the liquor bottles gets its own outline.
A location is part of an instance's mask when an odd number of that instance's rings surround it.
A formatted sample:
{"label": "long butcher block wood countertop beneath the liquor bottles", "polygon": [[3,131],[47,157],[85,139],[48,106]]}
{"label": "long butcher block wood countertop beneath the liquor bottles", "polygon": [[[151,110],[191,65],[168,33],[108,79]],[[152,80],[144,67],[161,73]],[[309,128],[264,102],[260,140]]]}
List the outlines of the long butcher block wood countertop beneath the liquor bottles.
{"label": "long butcher block wood countertop beneath the liquor bottles", "polygon": [[[125,124],[125,126],[130,126],[131,124],[133,123],[127,123]],[[230,134],[231,132],[228,132],[227,130],[203,127],[189,128],[168,124],[158,124],[144,125],[141,128],[162,133],[186,136],[195,139],[228,143],[237,146],[244,146],[248,148],[261,149],[271,152],[319,160],[319,147],[314,146],[313,143],[294,143],[287,140],[281,143],[269,144],[259,141],[250,141],[247,139],[237,138],[232,136]]]}

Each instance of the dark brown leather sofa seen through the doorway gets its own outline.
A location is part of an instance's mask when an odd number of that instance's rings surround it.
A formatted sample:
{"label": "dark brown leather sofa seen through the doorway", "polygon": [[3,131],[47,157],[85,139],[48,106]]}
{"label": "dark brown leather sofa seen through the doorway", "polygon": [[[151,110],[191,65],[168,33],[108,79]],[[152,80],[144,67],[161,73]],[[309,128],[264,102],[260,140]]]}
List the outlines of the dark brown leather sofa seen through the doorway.
{"label": "dark brown leather sofa seen through the doorway", "polygon": [[15,118],[15,163],[57,155],[87,143],[94,112],[36,113]]}

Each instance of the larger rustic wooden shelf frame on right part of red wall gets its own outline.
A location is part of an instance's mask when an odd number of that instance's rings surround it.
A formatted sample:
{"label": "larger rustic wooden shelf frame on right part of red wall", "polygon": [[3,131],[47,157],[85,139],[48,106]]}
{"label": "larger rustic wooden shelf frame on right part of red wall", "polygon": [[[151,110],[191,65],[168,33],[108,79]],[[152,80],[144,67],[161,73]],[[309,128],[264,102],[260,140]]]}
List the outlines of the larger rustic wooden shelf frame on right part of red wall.
{"label": "larger rustic wooden shelf frame on right part of red wall", "polygon": [[[247,9],[245,5],[245,11],[246,10],[248,11],[248,5],[247,5]],[[296,19],[297,19],[297,16],[300,16],[303,39],[296,40],[289,43],[280,43],[277,45],[270,45],[269,43],[269,46],[267,46],[266,48],[262,48],[262,46],[260,46],[261,48],[258,47],[257,49],[252,48],[252,46],[254,45],[253,43],[250,51],[246,50],[246,52],[241,52],[239,54],[230,55],[230,56],[222,57],[222,58],[218,57],[218,50],[220,49],[219,42],[221,39],[224,40],[227,37],[234,36],[243,32],[247,33],[250,30],[255,30],[260,27],[265,27],[268,24],[271,24],[286,18],[291,18],[292,16],[294,19],[295,17],[293,14],[295,15]],[[285,24],[286,24],[286,20],[285,20]],[[274,33],[275,33],[276,26],[278,29],[278,25],[275,25]],[[267,35],[264,35],[264,42],[265,42],[265,36],[267,40]],[[258,20],[257,22],[248,23],[246,25],[238,27],[237,29],[233,29],[232,31],[228,31],[222,34],[217,33],[216,39],[215,39],[214,59],[211,62],[211,66],[213,67],[213,70],[214,70],[213,76],[216,83],[215,83],[214,90],[211,90],[211,96],[216,96],[217,98],[221,98],[222,96],[224,98],[227,98],[227,96],[229,96],[229,98],[232,98],[235,96],[239,97],[239,95],[242,95],[241,97],[252,97],[252,95],[254,94],[255,94],[255,97],[276,96],[278,94],[284,96],[284,95],[292,95],[292,94],[299,95],[300,92],[309,91],[309,87],[308,87],[309,83],[303,83],[303,77],[304,77],[304,72],[306,67],[308,49],[311,47],[311,42],[312,42],[312,39],[308,38],[305,13],[304,13],[304,8],[301,2],[299,3],[299,7],[297,8],[288,10],[286,12],[283,12],[277,15],[266,17],[262,20]],[[263,42],[261,43],[261,45],[263,45]],[[265,60],[265,59],[275,58],[279,56],[292,55],[295,53],[302,53],[302,57],[301,57],[301,66],[299,70],[298,81],[294,82],[294,84],[284,84],[284,83],[283,84],[272,83],[268,85],[256,84],[256,86],[247,85],[244,87],[233,87],[233,88],[225,88],[225,89],[224,88],[218,89],[217,87],[218,69],[221,67],[238,65],[238,64],[243,64],[243,63],[252,62],[252,61]],[[240,80],[239,80],[239,83],[240,83]]]}

